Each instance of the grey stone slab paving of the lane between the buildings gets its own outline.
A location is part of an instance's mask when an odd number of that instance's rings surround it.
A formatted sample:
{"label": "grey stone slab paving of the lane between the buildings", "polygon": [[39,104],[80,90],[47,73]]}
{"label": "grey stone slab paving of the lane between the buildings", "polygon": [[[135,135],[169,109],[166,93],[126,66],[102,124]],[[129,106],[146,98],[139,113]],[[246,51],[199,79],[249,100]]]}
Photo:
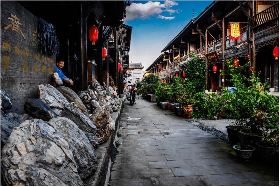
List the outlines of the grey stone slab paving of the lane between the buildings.
{"label": "grey stone slab paving of the lane between the buildings", "polygon": [[[111,186],[279,186],[278,162],[257,155],[242,162],[228,142],[142,96],[136,105],[124,103]],[[230,124],[203,122],[225,133]]]}

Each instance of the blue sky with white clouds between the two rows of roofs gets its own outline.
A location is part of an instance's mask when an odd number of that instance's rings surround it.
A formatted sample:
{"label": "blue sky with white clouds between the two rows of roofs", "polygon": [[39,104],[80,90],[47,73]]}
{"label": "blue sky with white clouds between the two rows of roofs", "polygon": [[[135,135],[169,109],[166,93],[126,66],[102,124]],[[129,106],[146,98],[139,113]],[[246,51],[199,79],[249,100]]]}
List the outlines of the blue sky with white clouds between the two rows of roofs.
{"label": "blue sky with white clouds between the two rows of roofs", "polygon": [[124,24],[132,27],[129,63],[146,70],[161,50],[213,1],[130,1]]}

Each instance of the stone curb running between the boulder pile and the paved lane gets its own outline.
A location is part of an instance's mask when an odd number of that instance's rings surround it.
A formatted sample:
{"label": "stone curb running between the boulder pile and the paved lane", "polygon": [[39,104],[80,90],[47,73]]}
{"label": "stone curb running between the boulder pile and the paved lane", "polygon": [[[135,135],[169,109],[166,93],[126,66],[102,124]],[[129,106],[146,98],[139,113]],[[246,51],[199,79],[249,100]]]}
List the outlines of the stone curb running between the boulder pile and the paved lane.
{"label": "stone curb running between the boulder pile and the paved lane", "polygon": [[84,186],[107,186],[106,183],[106,176],[108,176],[108,167],[111,166],[110,160],[110,153],[112,145],[115,143],[115,137],[117,131],[119,129],[119,119],[121,114],[122,103],[125,98],[120,98],[120,108],[118,108],[118,112],[112,113],[112,119],[115,121],[115,130],[112,132],[111,136],[108,138],[107,141],[99,145],[99,147],[95,150],[97,155],[97,169],[95,173],[83,179]]}

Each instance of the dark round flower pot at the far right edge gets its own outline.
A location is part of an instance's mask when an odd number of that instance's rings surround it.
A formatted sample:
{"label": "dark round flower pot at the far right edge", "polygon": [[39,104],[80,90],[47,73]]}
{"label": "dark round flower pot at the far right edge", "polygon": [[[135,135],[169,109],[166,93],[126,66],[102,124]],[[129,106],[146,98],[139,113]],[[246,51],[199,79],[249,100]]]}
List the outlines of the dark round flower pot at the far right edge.
{"label": "dark round flower pot at the far right edge", "polygon": [[257,153],[260,158],[266,161],[278,161],[279,160],[279,147],[265,147],[261,145],[261,142],[256,143]]}

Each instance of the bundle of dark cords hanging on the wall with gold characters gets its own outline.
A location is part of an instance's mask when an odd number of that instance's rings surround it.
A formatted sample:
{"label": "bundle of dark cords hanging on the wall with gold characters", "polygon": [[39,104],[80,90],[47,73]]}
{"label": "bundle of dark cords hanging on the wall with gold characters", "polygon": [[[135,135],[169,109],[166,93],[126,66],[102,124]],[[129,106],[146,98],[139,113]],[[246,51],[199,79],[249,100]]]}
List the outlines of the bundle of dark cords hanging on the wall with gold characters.
{"label": "bundle of dark cords hanging on the wall with gold characters", "polygon": [[56,56],[59,53],[59,42],[53,25],[41,18],[39,18],[38,45],[41,49],[41,55],[43,50],[45,50],[44,53],[47,55],[53,54]]}

